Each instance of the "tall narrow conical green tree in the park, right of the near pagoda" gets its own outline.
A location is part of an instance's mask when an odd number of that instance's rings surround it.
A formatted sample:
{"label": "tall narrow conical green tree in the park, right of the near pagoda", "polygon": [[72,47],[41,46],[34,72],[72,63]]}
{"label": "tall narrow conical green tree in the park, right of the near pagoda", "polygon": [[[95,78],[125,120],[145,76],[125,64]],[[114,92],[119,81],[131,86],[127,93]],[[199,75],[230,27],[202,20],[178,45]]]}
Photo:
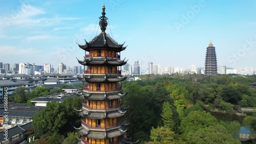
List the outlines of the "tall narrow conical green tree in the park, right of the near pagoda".
{"label": "tall narrow conical green tree in the park, right of the near pagoda", "polygon": [[173,122],[173,112],[172,112],[172,106],[169,102],[163,103],[162,108],[162,120],[163,120],[163,126],[165,128],[173,128],[174,122]]}

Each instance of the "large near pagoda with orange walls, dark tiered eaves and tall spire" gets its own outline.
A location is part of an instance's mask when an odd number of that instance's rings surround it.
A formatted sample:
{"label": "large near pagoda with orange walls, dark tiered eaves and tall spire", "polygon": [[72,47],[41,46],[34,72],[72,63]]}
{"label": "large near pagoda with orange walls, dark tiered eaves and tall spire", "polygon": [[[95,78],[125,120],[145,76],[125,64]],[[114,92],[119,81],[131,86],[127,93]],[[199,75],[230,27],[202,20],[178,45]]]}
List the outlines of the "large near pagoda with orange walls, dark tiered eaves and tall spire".
{"label": "large near pagoda with orange walls, dark tiered eaves and tall spire", "polygon": [[[101,33],[90,42],[79,47],[85,51],[81,65],[88,66],[80,81],[87,82],[81,93],[77,93],[87,101],[77,112],[82,116],[81,127],[75,128],[81,134],[80,143],[126,143],[123,134],[126,131],[121,116],[127,108],[122,107],[123,92],[121,82],[127,76],[121,76],[121,66],[127,61],[120,60],[120,52],[126,49],[105,33],[108,18],[105,17],[105,6],[99,17]],[[78,142],[79,143],[79,142]],[[128,142],[130,143],[130,142]]]}

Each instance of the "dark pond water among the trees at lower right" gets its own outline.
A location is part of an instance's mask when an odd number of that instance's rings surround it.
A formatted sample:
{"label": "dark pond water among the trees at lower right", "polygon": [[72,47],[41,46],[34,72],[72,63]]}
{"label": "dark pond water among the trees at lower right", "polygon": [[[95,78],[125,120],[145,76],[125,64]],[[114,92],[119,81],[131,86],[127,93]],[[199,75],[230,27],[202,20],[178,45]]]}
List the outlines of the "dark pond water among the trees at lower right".
{"label": "dark pond water among the trees at lower right", "polygon": [[[228,114],[228,113],[219,113],[219,112],[210,112],[212,116],[218,119],[218,121],[224,121],[224,122],[232,122],[232,121],[238,121],[241,125],[244,119],[244,116],[238,116],[236,114]],[[247,115],[252,115],[253,113],[246,113]],[[249,134],[250,130],[247,129],[244,126],[241,126],[240,133],[243,134]],[[251,141],[244,140],[241,141],[243,144],[249,144],[252,143]]]}

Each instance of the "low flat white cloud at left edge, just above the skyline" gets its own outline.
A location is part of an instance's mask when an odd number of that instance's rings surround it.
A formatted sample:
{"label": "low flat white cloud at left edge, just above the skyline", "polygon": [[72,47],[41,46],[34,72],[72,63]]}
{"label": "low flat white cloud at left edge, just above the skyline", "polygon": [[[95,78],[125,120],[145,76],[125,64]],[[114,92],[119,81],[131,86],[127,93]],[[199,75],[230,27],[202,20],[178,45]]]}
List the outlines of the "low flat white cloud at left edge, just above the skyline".
{"label": "low flat white cloud at left edge, just above the skyline", "polygon": [[22,47],[15,47],[10,45],[0,45],[0,51],[0,56],[22,56],[40,52],[38,50],[34,50],[32,47],[24,49]]}

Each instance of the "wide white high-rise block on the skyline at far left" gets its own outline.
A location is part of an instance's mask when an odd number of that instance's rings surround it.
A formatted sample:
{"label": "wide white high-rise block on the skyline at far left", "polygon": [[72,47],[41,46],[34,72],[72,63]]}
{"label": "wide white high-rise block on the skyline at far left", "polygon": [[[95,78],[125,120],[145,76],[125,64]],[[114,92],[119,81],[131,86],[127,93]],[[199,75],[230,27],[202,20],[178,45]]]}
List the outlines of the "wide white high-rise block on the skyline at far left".
{"label": "wide white high-rise block on the skyline at far left", "polygon": [[34,63],[20,63],[19,74],[35,75],[36,65]]}

